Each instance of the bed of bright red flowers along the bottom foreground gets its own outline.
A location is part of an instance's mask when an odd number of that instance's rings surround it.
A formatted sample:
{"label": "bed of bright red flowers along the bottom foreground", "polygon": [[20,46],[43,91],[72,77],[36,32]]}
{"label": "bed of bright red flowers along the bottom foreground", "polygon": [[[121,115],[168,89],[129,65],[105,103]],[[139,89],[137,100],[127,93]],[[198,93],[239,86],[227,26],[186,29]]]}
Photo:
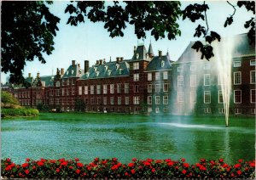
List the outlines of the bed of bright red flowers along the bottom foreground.
{"label": "bed of bright red flowers along the bottom foreground", "polygon": [[89,164],[74,160],[30,160],[16,165],[9,158],[1,161],[2,177],[11,178],[251,178],[255,177],[255,160],[238,160],[228,165],[223,159],[205,160],[190,165],[181,160],[137,160],[128,164],[116,158]]}

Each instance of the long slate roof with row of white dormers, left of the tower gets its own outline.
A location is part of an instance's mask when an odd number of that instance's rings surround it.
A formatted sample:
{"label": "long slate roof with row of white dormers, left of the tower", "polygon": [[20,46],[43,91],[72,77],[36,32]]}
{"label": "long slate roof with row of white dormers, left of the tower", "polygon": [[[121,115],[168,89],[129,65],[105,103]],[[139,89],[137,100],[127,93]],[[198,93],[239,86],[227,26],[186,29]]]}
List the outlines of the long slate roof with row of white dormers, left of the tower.
{"label": "long slate roof with row of white dormers, left of the tower", "polygon": [[130,65],[126,61],[119,62],[119,64],[108,62],[102,65],[93,65],[79,80],[129,76],[129,69]]}

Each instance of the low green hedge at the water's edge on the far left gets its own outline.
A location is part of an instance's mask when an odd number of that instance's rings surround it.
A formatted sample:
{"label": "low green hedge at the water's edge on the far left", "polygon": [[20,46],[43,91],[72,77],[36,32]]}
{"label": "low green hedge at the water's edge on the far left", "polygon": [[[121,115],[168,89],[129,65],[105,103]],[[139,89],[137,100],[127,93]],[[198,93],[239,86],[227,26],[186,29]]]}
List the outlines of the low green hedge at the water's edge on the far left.
{"label": "low green hedge at the water's edge on the far left", "polygon": [[38,110],[35,109],[2,109],[1,110],[1,116],[33,116],[33,115],[39,115]]}

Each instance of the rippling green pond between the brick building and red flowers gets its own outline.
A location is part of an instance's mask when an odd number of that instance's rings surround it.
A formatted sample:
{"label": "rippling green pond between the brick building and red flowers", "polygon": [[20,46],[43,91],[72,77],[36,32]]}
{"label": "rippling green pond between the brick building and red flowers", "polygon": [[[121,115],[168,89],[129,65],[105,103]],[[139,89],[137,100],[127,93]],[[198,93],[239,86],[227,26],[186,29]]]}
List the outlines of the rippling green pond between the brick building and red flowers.
{"label": "rippling green pond between the brick building and red flowers", "polygon": [[254,160],[255,121],[176,115],[41,114],[2,120],[2,158]]}

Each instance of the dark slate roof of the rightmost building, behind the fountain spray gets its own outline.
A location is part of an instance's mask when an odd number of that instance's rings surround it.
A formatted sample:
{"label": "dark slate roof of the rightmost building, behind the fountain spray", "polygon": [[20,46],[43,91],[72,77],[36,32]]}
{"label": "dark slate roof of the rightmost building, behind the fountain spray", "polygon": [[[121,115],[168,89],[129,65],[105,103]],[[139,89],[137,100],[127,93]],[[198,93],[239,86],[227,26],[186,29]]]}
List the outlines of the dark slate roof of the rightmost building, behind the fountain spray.
{"label": "dark slate roof of the rightmost building, behind the fountain spray", "polygon": [[[246,33],[239,34],[231,38],[232,38],[231,39],[232,43],[236,44],[232,52],[233,58],[236,58],[239,56],[255,55],[255,43],[249,44],[249,40]],[[224,42],[224,39],[228,39],[228,38],[223,37],[221,39],[221,42]],[[218,42],[218,43],[220,44],[221,42]],[[184,50],[182,55],[179,57],[179,59],[177,59],[177,61],[174,64],[201,60],[201,53],[196,52],[195,49],[191,48],[194,43],[195,42],[189,42],[188,47]]]}

